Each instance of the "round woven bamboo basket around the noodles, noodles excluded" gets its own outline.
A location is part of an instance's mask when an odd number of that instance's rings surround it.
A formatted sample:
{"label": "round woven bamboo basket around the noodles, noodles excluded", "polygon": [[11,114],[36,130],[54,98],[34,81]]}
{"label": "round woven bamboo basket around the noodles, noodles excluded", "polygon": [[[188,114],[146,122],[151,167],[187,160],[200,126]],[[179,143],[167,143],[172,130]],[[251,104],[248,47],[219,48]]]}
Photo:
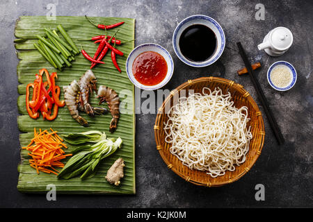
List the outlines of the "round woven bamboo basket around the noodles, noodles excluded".
{"label": "round woven bamboo basket around the noodles, noodles excluded", "polygon": [[[236,166],[234,171],[226,171],[225,175],[216,178],[212,178],[205,171],[191,170],[184,166],[175,155],[170,153],[171,144],[165,142],[166,134],[163,130],[164,122],[168,121],[168,114],[165,111],[172,107],[173,99],[178,98],[179,91],[182,89],[193,89],[195,93],[202,93],[203,87],[209,87],[210,89],[220,87],[223,90],[223,94],[230,92],[236,108],[241,108],[243,105],[248,107],[248,117],[250,118],[247,127],[251,126],[252,139],[250,140],[249,151],[246,155],[246,162],[243,162],[240,166]],[[186,96],[188,96],[188,91],[186,91]],[[261,154],[265,131],[262,112],[260,112],[257,103],[255,103],[246,89],[243,89],[242,85],[234,83],[232,80],[211,76],[188,80],[170,92],[170,95],[158,110],[154,125],[154,136],[157,143],[157,151],[159,151],[168,169],[171,169],[178,176],[195,185],[219,187],[239,180],[239,178],[251,169]]]}

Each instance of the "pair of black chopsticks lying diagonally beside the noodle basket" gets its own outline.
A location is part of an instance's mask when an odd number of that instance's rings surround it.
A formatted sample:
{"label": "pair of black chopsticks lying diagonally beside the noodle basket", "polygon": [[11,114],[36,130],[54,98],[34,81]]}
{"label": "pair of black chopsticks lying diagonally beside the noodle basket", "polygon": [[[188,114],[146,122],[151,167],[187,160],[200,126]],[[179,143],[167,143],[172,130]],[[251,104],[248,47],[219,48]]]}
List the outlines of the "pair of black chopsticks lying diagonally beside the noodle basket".
{"label": "pair of black chopsticks lying diagonally beside the noodle basket", "polygon": [[259,97],[259,100],[261,101],[264,111],[266,113],[266,117],[268,119],[268,122],[270,123],[270,126],[274,132],[274,135],[276,139],[278,140],[278,144],[284,144],[284,137],[282,136],[282,133],[280,132],[280,128],[278,127],[278,123],[276,122],[273,112],[271,111],[268,102],[266,100],[266,97],[264,96],[264,92],[262,91],[261,85],[259,85],[259,81],[257,78],[255,78],[255,75],[253,74],[253,69],[251,67],[251,64],[248,60],[248,57],[246,55],[246,52],[244,51],[241,42],[237,42],[237,46],[239,49],[239,53],[241,58],[243,59],[243,62],[245,63],[246,68],[248,69],[249,76],[252,80],[253,85],[255,86],[255,89],[257,90],[257,96]]}

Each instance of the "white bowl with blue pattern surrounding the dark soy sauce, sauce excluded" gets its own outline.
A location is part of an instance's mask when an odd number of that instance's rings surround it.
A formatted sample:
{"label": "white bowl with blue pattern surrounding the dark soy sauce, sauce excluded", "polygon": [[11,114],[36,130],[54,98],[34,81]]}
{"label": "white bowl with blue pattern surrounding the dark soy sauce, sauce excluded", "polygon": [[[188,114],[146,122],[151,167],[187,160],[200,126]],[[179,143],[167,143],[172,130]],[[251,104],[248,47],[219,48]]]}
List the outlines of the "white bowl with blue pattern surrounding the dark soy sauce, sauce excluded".
{"label": "white bowl with blue pattern surrounding the dark soy sauce, sauce excluded", "polygon": [[[180,51],[179,48],[179,38],[184,32],[186,28],[189,26],[193,26],[195,24],[201,24],[207,26],[214,32],[216,36],[216,50],[214,51],[213,55],[203,61],[203,62],[195,62],[188,60]],[[223,28],[216,22],[214,19],[207,15],[192,15],[190,17],[186,17],[186,19],[182,20],[175,28],[175,31],[172,35],[172,46],[177,57],[182,60],[182,62],[186,63],[186,65],[190,65],[191,67],[207,67],[208,65],[212,65],[220,56],[222,55],[225,49],[225,33]]]}

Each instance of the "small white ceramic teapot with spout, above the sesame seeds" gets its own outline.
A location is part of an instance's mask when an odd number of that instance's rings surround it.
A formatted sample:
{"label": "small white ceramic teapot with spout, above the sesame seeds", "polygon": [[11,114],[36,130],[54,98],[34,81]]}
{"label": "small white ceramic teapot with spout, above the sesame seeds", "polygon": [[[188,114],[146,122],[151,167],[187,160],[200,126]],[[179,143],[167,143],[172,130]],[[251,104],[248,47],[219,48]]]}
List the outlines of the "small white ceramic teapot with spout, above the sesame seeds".
{"label": "small white ceramic teapot with spout, above the sesame seeds", "polygon": [[290,48],[293,41],[294,37],[288,28],[277,27],[264,37],[257,48],[264,49],[270,56],[281,56]]}

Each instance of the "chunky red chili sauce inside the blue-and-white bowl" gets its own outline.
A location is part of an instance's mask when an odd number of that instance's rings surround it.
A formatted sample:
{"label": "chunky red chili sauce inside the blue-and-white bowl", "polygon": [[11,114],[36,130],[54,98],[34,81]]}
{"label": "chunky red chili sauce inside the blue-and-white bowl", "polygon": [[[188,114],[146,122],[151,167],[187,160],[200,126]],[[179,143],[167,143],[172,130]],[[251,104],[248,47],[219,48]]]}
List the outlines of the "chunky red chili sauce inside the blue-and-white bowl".
{"label": "chunky red chili sauce inside the blue-and-white bowl", "polygon": [[159,53],[146,51],[136,57],[133,63],[133,74],[143,85],[157,85],[166,77],[168,65]]}

